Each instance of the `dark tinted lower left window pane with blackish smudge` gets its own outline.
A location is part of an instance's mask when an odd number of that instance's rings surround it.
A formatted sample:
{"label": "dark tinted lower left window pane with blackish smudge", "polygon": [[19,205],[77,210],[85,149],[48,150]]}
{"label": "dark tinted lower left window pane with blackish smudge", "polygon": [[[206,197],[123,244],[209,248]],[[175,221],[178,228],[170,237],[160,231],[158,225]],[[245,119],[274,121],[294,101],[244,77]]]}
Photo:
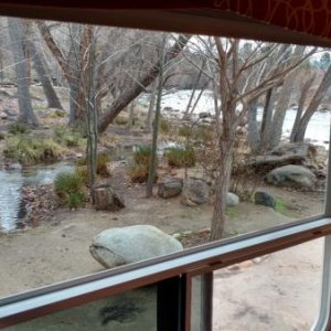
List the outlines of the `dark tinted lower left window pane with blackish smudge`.
{"label": "dark tinted lower left window pane with blackish smudge", "polygon": [[156,331],[157,288],[149,286],[41,317],[7,331]]}

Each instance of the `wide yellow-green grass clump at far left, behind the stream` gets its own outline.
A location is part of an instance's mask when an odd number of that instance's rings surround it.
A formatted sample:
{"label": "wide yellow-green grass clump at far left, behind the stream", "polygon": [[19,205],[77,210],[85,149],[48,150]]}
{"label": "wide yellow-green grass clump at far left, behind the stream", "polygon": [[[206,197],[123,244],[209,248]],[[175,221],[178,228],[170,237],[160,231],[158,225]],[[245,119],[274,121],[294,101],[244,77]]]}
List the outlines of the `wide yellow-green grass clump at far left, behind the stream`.
{"label": "wide yellow-green grass clump at far left, behind the stream", "polygon": [[22,164],[33,164],[61,158],[63,149],[53,140],[38,140],[20,135],[7,139],[3,153]]}

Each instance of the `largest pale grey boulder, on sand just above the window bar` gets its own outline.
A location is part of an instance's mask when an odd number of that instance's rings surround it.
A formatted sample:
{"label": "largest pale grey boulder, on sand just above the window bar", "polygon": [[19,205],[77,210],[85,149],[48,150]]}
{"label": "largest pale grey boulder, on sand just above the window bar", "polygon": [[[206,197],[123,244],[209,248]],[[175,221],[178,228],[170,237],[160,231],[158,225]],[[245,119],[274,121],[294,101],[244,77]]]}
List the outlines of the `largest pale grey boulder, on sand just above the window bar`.
{"label": "largest pale grey boulder, on sand just above the window bar", "polygon": [[174,237],[151,225],[105,229],[94,237],[89,252],[106,268],[113,268],[182,250]]}

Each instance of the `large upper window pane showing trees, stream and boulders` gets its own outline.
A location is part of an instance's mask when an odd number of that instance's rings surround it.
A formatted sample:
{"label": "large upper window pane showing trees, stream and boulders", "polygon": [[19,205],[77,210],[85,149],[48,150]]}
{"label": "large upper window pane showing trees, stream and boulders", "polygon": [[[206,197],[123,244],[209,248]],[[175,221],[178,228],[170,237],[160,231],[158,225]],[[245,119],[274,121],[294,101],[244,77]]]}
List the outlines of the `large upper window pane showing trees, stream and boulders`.
{"label": "large upper window pane showing trees, stream and boulders", "polygon": [[328,50],[0,25],[0,297],[323,212]]}

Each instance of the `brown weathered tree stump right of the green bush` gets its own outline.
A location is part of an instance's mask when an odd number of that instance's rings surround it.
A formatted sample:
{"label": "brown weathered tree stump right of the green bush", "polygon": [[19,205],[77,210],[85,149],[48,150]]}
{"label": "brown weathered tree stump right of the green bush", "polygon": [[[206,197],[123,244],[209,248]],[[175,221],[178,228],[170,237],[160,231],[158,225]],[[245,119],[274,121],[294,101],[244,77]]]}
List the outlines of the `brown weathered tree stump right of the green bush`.
{"label": "brown weathered tree stump right of the green bush", "polygon": [[125,207],[124,199],[109,184],[94,188],[93,195],[97,211],[116,212]]}

